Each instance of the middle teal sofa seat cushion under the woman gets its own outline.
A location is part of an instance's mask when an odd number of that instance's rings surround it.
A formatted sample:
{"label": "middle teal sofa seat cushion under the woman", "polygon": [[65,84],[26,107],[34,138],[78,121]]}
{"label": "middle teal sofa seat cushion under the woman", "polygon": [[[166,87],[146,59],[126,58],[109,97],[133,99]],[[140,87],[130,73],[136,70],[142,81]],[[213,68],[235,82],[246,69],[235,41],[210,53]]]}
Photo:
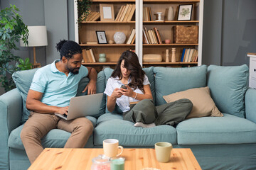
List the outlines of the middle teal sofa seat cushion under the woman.
{"label": "middle teal sofa seat cushion under the woman", "polygon": [[94,144],[102,145],[103,140],[117,139],[124,147],[149,147],[156,142],[176,144],[176,129],[169,125],[153,128],[136,128],[134,123],[123,120],[117,113],[105,113],[97,120],[94,131]]}

